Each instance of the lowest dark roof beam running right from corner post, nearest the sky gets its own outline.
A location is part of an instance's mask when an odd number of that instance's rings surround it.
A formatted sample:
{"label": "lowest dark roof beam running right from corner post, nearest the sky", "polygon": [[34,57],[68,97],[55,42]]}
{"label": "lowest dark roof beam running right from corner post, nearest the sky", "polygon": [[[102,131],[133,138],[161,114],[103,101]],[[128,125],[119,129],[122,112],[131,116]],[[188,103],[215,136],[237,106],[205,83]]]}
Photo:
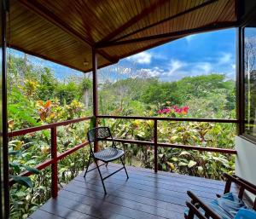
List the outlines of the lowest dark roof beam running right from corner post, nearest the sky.
{"label": "lowest dark roof beam running right from corner post, nearest the sky", "polygon": [[[123,40],[123,41],[118,41],[118,42],[108,42],[108,43],[101,44],[98,47],[98,49],[111,47],[111,46],[125,45],[125,44],[129,44],[129,43],[141,43],[141,42],[148,41],[148,40],[167,38],[167,37],[170,37],[171,39],[172,39],[172,37],[173,38],[184,37],[189,34],[195,34],[195,33],[199,33],[199,32],[210,32],[212,30],[219,30],[219,29],[224,29],[224,28],[229,28],[229,27],[235,27],[235,26],[237,26],[237,24],[238,24],[237,22],[224,22],[224,23],[219,23],[218,25],[211,24],[211,25],[201,26],[199,28],[184,30],[184,31],[180,31],[180,32],[167,32],[167,33],[152,35],[152,36],[148,36],[148,37],[140,37],[140,38],[128,39],[128,40]],[[171,39],[169,39],[169,40],[171,40]]]}

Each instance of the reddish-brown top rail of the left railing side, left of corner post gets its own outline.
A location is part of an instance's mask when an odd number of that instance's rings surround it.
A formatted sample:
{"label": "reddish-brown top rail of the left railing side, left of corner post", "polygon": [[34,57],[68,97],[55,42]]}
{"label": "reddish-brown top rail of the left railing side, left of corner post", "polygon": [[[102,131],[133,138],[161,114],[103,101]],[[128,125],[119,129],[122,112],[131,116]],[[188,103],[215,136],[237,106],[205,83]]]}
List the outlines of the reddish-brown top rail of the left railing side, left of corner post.
{"label": "reddish-brown top rail of the left railing side, left of corner post", "polygon": [[79,123],[79,122],[82,122],[85,120],[89,120],[90,118],[92,118],[92,117],[75,118],[75,119],[58,122],[58,123],[54,123],[54,124],[44,124],[44,125],[40,125],[40,126],[36,126],[36,127],[32,127],[32,128],[23,129],[23,130],[15,130],[15,131],[9,132],[8,136],[15,137],[15,136],[19,136],[19,135],[26,135],[28,133],[32,133],[32,132],[39,131],[39,130],[48,130],[48,129],[62,126],[62,125]]}

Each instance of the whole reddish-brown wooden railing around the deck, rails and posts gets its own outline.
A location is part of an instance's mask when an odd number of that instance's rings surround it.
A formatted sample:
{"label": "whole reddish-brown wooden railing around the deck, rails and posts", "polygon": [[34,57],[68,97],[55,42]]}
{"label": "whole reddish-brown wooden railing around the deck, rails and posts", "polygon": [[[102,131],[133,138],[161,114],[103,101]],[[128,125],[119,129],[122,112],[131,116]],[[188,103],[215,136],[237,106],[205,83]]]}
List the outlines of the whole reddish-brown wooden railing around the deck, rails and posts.
{"label": "whole reddish-brown wooden railing around the deck, rails and posts", "polygon": [[[64,126],[67,124],[75,124],[79,122],[83,122],[85,120],[89,120],[92,117],[85,118],[77,118],[73,120],[67,120],[65,122],[55,123],[55,124],[44,124],[38,127],[27,128],[24,130],[16,130],[9,133],[10,137],[26,135],[28,133],[40,131],[40,130],[50,130],[51,136],[51,158],[44,161],[44,163],[38,164],[36,168],[38,170],[43,170],[49,165],[51,165],[51,194],[52,197],[55,198],[58,195],[58,161],[62,158],[66,158],[67,155],[76,152],[82,147],[85,147],[89,144],[88,141],[85,141],[71,149],[68,149],[64,153],[57,154],[57,127]],[[100,118],[114,118],[114,119],[142,119],[142,120],[153,120],[154,121],[154,141],[137,141],[137,140],[126,140],[126,139],[117,139],[114,138],[114,141],[129,143],[129,144],[137,144],[137,145],[149,145],[154,147],[154,171],[157,172],[157,164],[158,164],[158,147],[175,147],[182,148],[185,150],[197,150],[197,151],[207,151],[207,152],[215,152],[215,153],[230,153],[236,154],[236,150],[233,149],[224,149],[224,148],[216,148],[216,147],[199,147],[199,146],[189,146],[189,145],[179,145],[179,144],[170,144],[170,143],[161,143],[158,142],[158,121],[188,121],[188,122],[207,122],[207,123],[232,123],[238,124],[238,120],[236,119],[211,119],[211,118],[161,118],[161,117],[133,117],[133,116],[108,116],[108,115],[100,115],[97,116],[97,119]],[[20,174],[20,176],[30,176],[31,172],[25,171]],[[12,186],[15,182],[10,180],[9,185]]]}

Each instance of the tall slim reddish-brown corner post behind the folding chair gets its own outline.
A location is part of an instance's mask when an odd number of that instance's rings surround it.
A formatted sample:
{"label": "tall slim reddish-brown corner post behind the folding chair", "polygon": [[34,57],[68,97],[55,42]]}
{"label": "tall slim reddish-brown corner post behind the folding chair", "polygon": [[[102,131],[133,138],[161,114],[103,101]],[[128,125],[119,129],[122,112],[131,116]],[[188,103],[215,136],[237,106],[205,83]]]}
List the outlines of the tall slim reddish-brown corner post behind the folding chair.
{"label": "tall slim reddish-brown corner post behind the folding chair", "polygon": [[[95,126],[98,126],[98,90],[97,90],[97,55],[92,49],[92,88],[93,88],[93,116],[96,118]],[[98,151],[98,143],[94,144],[94,152]]]}

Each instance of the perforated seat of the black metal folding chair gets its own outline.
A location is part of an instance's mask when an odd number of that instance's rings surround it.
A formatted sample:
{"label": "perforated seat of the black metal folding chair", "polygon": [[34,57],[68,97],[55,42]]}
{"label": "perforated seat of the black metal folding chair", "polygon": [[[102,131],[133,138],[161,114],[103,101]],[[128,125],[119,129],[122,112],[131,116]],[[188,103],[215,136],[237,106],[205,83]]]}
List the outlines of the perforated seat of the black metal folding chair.
{"label": "perforated seat of the black metal folding chair", "polygon": [[120,158],[124,155],[123,150],[117,148],[108,147],[100,152],[94,153],[96,159],[102,160],[104,162],[109,162],[114,159]]}

